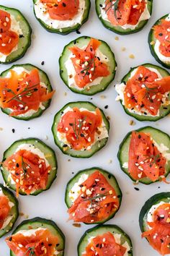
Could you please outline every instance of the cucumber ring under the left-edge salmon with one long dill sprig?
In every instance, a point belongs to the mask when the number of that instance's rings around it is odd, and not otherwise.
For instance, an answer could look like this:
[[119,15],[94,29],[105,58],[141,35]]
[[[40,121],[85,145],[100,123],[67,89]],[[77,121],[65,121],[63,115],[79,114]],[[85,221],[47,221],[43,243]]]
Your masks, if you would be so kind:
[[[19,64],[19,65],[13,65],[12,67],[10,67],[9,69],[6,69],[4,72],[1,73],[0,77],[6,77],[6,74],[11,70],[14,69],[15,67],[23,67],[24,69],[26,69],[27,71],[31,71],[32,69],[38,69],[39,71],[39,75],[40,75],[40,82],[43,82],[47,88],[48,88],[48,92],[51,92],[53,90],[51,84],[50,84],[50,80],[48,78],[48,75],[42,71],[42,69],[39,69],[38,67],[33,66],[32,64]],[[24,115],[19,115],[19,116],[12,116],[14,117],[14,119],[19,119],[19,120],[24,120],[24,121],[28,121],[30,119],[34,119],[38,116],[41,116],[42,113],[45,111],[45,109],[47,109],[50,106],[50,102],[51,99],[45,102],[42,102],[42,106],[44,106],[44,109],[39,108],[37,110],[37,112],[35,112],[34,114],[32,114],[31,116],[24,116]],[[1,108],[1,111],[4,112],[4,114],[11,114],[12,111],[9,108]]]

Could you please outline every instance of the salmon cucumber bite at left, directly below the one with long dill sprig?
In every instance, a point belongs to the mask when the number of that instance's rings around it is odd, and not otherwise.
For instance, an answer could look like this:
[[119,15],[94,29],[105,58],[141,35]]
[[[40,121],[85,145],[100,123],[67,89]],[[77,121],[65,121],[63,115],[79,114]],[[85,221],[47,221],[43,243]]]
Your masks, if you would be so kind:
[[1,174],[17,196],[38,195],[56,178],[55,152],[38,139],[17,140],[4,152]]

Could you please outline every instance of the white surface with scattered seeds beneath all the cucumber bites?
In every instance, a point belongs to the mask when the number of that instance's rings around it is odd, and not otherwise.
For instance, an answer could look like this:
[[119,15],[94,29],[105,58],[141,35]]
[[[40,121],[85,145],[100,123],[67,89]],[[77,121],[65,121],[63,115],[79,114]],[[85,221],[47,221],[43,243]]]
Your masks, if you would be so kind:
[[[27,51],[24,58],[17,61],[16,64],[30,63],[44,69],[50,77],[53,88],[56,90],[50,108],[48,108],[45,114],[40,118],[33,119],[32,121],[17,121],[0,113],[0,127],[3,128],[2,131],[0,130],[0,158],[2,158],[4,150],[6,150],[12,142],[22,137],[40,138],[55,150],[58,158],[58,178],[53,183],[51,189],[37,197],[19,196],[19,211],[28,215],[29,218],[35,216],[52,218],[66,235],[66,256],[76,256],[76,246],[81,235],[84,234],[86,229],[91,228],[93,225],[86,226],[81,224],[81,228],[76,228],[72,226],[71,221],[68,222],[67,208],[64,202],[66,183],[73,177],[72,172],[76,174],[77,171],[83,168],[99,166],[115,174],[123,195],[119,212],[115,218],[107,223],[119,225],[130,235],[133,241],[134,256],[157,256],[157,252],[148,245],[146,239],[142,240],[140,238],[138,215],[148,197],[158,192],[169,191],[169,185],[163,183],[151,184],[149,186],[139,184],[138,188],[140,191],[136,191],[133,182],[120,170],[117,161],[117,150],[123,137],[125,137],[127,132],[131,129],[138,129],[139,127],[149,124],[169,133],[170,117],[167,116],[161,121],[156,121],[156,123],[135,121],[135,126],[130,126],[129,121],[132,120],[132,118],[125,114],[119,102],[115,102],[116,93],[113,85],[121,80],[122,76],[129,71],[130,67],[146,62],[157,64],[148,48],[148,32],[153,23],[158,20],[159,17],[166,14],[168,9],[170,10],[169,0],[154,0],[153,15],[148,25],[146,25],[142,31],[134,35],[118,35],[119,40],[115,40],[115,36],[117,36],[115,33],[112,33],[102,26],[94,9],[94,0],[91,0],[89,21],[81,27],[81,35],[100,38],[109,43],[112,51],[115,52],[118,64],[115,81],[105,92],[92,96],[92,100],[90,100],[91,97],[89,96],[75,94],[68,90],[66,85],[63,84],[58,72],[58,58],[63,51],[63,46],[71,40],[78,38],[79,35],[71,33],[70,35],[64,36],[48,33],[35,19],[31,0],[0,0],[0,4],[19,9],[25,17],[27,17],[27,20],[29,20],[33,30],[32,46]],[[122,47],[126,47],[126,51],[122,52]],[[135,59],[130,59],[130,54],[134,54]],[[45,61],[44,66],[41,66],[42,61]],[[7,66],[0,64],[0,72],[10,66],[10,64]],[[105,95],[106,98],[101,98],[101,95]],[[69,101],[91,101],[103,109],[104,106],[109,106],[109,108],[105,110],[107,116],[111,116],[109,141],[106,147],[92,158],[69,158],[63,155],[53,142],[53,135],[50,130],[53,123],[53,116]],[[28,129],[28,127],[30,127],[30,129]],[[12,133],[12,128],[15,129],[14,134]],[[48,136],[48,140],[45,140],[46,135]],[[71,159],[71,161],[68,162],[68,159]],[[110,160],[112,160],[112,163],[109,163]],[[3,182],[1,177],[0,182]],[[23,217],[19,217],[17,224],[23,221],[23,219]],[[9,249],[4,239],[5,236],[0,239],[1,256],[9,255]]]

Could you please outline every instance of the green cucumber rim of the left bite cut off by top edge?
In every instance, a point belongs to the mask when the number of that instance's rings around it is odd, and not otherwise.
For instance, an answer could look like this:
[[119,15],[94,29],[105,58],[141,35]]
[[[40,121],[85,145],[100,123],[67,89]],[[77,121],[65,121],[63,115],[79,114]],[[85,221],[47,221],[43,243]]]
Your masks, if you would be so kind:
[[58,34],[61,34],[61,35],[68,35],[69,33],[73,32],[73,31],[78,31],[79,28],[81,27],[81,25],[83,25],[89,18],[91,1],[90,0],[84,0],[85,1],[85,9],[84,9],[84,14],[83,14],[81,24],[77,23],[76,25],[73,25],[73,27],[63,27],[63,28],[60,28],[60,29],[56,29],[56,28],[53,28],[52,26],[49,26],[48,24],[46,24],[44,21],[42,21],[40,18],[37,17],[36,12],[35,12],[35,4],[37,3],[37,1],[38,0],[33,0],[35,17],[40,22],[40,25],[42,25],[42,27],[44,27],[45,30],[48,30],[48,32],[51,32],[51,33],[58,33]]

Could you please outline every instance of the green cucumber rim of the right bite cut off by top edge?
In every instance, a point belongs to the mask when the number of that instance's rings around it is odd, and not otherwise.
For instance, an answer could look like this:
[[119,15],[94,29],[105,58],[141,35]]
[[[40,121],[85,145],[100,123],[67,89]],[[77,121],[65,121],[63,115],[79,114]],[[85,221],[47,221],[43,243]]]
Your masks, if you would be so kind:
[[[101,12],[101,7],[104,5],[104,1],[105,0],[96,0],[96,12],[97,12],[97,16],[99,17],[99,20],[101,20],[102,24],[104,25],[104,27],[106,27],[108,30],[111,30],[117,34],[120,35],[129,35],[129,34],[133,34],[133,33],[137,33],[138,31],[142,30],[143,27],[147,24],[148,20],[143,20],[141,21],[137,27],[135,27],[135,29],[124,29],[121,26],[114,26],[112,25],[111,22],[108,22],[107,20],[104,20],[102,18],[102,12]],[[148,12],[150,12],[150,14],[152,14],[152,7],[153,7],[153,0],[148,0]]]

